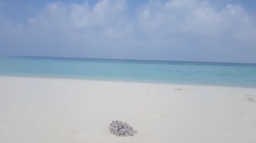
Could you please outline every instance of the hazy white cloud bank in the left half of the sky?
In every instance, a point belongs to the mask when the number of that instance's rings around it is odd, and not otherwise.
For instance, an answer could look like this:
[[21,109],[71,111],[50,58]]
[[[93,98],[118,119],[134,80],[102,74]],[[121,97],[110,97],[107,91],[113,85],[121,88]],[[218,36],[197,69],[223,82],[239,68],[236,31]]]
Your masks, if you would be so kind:
[[[48,4],[42,12],[29,21],[34,30],[45,32],[76,33],[84,30],[84,33],[87,33],[87,30],[94,29],[95,33],[99,32],[98,34],[105,31],[110,33],[113,25],[126,25],[124,21],[122,22],[125,9],[125,1],[103,0],[93,7],[88,2],[70,5],[56,2]],[[115,31],[111,30],[112,34],[108,35],[116,37],[119,34],[114,34]]]

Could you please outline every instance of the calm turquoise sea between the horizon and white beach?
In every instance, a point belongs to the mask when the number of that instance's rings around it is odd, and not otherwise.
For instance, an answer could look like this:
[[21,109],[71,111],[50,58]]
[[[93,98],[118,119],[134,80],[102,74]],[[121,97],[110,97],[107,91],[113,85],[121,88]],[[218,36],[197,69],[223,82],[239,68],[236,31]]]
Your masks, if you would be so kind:
[[256,64],[0,56],[0,75],[256,88]]

